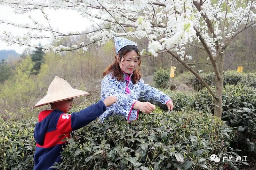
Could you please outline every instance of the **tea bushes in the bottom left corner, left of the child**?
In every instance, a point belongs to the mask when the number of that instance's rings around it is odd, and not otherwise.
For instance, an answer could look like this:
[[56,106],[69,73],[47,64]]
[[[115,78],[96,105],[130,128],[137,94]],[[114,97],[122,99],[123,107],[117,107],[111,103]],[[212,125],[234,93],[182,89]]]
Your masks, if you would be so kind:
[[0,169],[33,169],[36,119],[20,119],[19,122],[0,121]]

